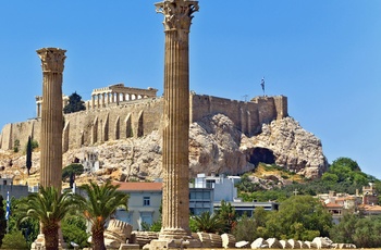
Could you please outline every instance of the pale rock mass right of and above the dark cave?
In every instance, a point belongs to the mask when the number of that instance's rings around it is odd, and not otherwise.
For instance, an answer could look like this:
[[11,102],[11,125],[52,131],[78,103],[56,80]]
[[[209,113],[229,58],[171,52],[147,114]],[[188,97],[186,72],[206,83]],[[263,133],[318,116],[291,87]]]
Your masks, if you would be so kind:
[[[242,148],[270,150],[274,163],[306,177],[320,176],[328,168],[321,141],[292,117],[262,125],[262,133],[245,138]],[[263,150],[263,151],[266,151]]]

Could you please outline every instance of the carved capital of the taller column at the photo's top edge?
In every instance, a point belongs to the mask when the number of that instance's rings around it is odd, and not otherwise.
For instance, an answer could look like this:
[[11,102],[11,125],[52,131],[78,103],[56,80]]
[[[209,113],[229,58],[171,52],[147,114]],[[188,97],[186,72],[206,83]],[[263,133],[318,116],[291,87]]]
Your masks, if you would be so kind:
[[156,12],[164,15],[165,30],[189,32],[193,13],[198,11],[198,1],[164,0],[158,2]]

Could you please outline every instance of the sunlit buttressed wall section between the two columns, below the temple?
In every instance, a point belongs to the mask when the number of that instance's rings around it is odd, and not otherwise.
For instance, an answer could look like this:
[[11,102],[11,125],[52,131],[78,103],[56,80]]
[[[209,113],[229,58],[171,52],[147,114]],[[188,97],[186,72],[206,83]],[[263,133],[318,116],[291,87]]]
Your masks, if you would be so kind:
[[160,98],[150,98],[66,114],[63,149],[148,135],[160,128],[162,109]]

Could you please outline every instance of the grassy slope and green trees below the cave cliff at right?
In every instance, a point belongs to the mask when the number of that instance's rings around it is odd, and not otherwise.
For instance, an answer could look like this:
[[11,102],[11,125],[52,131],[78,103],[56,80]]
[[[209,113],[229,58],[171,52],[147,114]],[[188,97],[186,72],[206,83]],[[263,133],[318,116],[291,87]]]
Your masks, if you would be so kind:
[[379,179],[361,172],[356,161],[339,158],[321,178],[314,180],[285,171],[281,166],[259,164],[254,172],[242,176],[237,188],[238,196],[244,201],[283,201],[294,195],[316,196],[329,191],[354,195],[356,189],[361,191],[369,183],[381,193]]

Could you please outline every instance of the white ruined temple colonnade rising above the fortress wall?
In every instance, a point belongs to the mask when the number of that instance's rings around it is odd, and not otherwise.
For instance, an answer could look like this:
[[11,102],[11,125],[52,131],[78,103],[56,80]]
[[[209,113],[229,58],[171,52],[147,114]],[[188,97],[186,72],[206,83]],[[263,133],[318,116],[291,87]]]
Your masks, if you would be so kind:
[[124,84],[115,84],[105,88],[94,89],[91,92],[91,101],[87,102],[87,109],[99,109],[108,107],[111,103],[132,101],[144,98],[153,98],[157,95],[155,88],[131,88],[124,87]]

